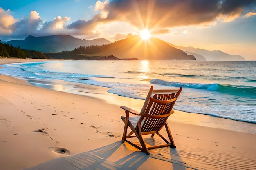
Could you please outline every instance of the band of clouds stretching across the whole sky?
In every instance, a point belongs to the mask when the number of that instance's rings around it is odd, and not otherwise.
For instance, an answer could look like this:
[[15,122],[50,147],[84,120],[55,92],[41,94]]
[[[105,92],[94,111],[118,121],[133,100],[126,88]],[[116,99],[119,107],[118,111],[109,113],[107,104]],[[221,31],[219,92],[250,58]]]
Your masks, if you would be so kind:
[[61,16],[43,21],[36,11],[18,20],[10,15],[9,10],[0,8],[0,35],[11,35],[12,38],[54,34],[101,35],[100,29],[112,28],[115,22],[125,22],[137,30],[150,29],[152,34],[166,34],[175,27],[209,27],[218,21],[232,22],[240,16],[256,15],[248,13],[255,7],[256,0],[98,0],[90,20],[80,19],[72,23],[69,23],[69,17]]

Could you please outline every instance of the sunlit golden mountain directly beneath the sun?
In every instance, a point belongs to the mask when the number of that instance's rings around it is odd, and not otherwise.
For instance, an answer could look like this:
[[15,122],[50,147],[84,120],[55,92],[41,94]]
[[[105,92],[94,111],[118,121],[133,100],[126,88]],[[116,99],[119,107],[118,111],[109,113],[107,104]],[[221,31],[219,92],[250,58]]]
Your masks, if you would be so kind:
[[187,55],[184,51],[172,47],[158,38],[150,37],[149,40],[141,40],[139,35],[129,35],[126,39],[104,45],[95,54],[103,56],[114,55],[121,59],[195,60],[193,55]]

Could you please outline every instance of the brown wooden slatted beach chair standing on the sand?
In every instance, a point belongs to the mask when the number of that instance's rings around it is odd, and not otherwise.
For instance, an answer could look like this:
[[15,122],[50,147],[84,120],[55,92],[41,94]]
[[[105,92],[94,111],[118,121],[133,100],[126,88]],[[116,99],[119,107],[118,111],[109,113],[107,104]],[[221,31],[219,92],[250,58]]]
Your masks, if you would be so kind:
[[[125,117],[121,116],[121,119],[124,121],[124,134],[122,141],[128,142],[132,146],[145,152],[147,155],[149,155],[149,149],[160,148],[164,146],[176,148],[170,128],[166,121],[168,117],[174,113],[172,109],[181,91],[182,87],[179,89],[162,90],[153,90],[153,87],[151,87],[140,113],[126,106],[121,106],[121,108],[125,110],[126,114]],[[137,116],[129,117],[129,113]],[[130,127],[131,132],[127,135],[128,126]],[[159,133],[163,127],[166,128],[169,141]],[[151,134],[151,137],[153,137],[155,133],[159,135],[159,137],[161,137],[166,142],[166,144],[147,147],[142,135]],[[137,137],[141,147],[127,140],[127,138],[131,137]]]

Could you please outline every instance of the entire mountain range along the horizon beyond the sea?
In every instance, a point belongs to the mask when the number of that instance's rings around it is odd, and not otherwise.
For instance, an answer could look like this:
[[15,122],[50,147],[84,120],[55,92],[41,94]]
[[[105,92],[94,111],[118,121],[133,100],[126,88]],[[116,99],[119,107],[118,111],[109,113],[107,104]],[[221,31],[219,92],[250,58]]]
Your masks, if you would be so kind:
[[[139,42],[139,43],[138,43]],[[94,40],[82,40],[70,35],[52,35],[45,37],[28,36],[24,40],[11,40],[7,42],[13,47],[40,51],[43,53],[59,53],[72,51],[80,46],[102,46],[108,45],[97,53],[98,56],[113,55],[120,59],[138,58],[141,60],[219,60],[219,61],[244,61],[240,55],[230,55],[220,50],[195,49],[193,47],[175,46],[158,38],[150,38],[151,45],[147,41],[141,41],[137,35],[128,35],[126,39],[114,43],[104,38]],[[135,45],[136,44],[136,45]],[[85,53],[86,54],[86,53]]]

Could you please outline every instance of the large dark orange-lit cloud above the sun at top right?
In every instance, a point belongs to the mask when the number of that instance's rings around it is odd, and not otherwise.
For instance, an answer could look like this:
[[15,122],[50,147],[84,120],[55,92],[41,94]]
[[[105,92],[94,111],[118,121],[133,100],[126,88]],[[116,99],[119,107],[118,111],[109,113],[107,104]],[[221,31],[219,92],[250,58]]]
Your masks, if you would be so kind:
[[[200,25],[216,20],[231,21],[254,9],[256,0],[113,0],[89,21],[76,21],[68,29],[93,28],[99,22],[125,21],[139,29]],[[225,18],[231,18],[229,20]]]

